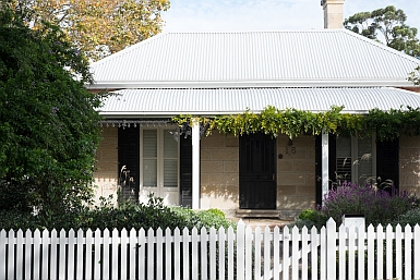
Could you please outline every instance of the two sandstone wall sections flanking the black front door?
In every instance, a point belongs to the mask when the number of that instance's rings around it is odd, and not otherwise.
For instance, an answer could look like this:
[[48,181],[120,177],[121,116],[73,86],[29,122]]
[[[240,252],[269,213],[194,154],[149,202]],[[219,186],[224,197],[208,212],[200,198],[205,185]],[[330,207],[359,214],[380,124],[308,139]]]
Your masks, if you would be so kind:
[[[315,141],[277,137],[277,209],[293,217],[315,206]],[[279,158],[280,157],[280,158]],[[201,142],[201,208],[233,216],[239,206],[239,138],[217,132]]]

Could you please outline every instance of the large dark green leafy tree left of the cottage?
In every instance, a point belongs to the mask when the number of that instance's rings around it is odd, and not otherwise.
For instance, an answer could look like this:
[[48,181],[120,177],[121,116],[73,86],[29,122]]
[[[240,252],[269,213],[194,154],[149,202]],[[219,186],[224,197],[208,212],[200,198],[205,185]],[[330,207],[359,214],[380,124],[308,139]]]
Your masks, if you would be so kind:
[[92,198],[103,95],[89,82],[59,27],[0,10],[0,209],[60,215]]

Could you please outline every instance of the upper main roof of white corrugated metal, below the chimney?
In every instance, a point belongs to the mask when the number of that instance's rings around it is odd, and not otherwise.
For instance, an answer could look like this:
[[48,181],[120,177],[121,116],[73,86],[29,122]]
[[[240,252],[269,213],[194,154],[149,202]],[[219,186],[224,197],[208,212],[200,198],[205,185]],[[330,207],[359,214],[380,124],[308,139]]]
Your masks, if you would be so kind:
[[92,88],[404,86],[420,60],[346,29],[163,33],[92,64]]

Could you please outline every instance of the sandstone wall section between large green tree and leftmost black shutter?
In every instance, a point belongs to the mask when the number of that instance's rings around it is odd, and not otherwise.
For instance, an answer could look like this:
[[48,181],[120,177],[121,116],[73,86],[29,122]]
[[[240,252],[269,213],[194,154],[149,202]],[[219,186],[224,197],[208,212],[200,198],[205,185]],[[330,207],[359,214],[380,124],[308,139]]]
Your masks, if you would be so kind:
[[96,151],[97,163],[95,172],[95,202],[99,197],[113,196],[117,202],[118,185],[118,127],[103,127],[103,141]]

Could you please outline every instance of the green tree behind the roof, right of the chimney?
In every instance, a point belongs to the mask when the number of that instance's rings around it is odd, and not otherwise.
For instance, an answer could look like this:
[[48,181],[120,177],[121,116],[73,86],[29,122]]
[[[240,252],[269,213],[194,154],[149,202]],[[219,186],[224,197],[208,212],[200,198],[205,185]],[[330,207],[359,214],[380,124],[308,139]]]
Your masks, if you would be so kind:
[[360,12],[346,19],[344,25],[357,34],[381,41],[386,46],[420,58],[420,42],[417,28],[405,24],[407,15],[400,9],[388,5],[372,12]]

